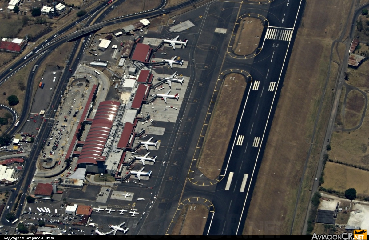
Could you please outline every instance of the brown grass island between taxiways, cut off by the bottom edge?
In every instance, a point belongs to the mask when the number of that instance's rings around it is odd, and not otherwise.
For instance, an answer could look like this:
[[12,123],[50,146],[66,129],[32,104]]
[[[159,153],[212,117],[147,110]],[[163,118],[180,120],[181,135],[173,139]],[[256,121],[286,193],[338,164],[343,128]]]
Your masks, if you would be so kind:
[[199,236],[203,234],[208,214],[209,209],[205,205],[202,204],[184,205],[171,235]]

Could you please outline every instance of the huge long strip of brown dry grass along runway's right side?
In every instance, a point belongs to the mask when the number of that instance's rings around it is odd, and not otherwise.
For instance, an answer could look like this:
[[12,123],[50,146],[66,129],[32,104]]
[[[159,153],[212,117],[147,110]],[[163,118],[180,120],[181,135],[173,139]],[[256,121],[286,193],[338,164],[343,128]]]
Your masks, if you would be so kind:
[[[307,1],[244,227],[244,235],[289,235],[297,192],[310,147],[317,109],[328,74],[327,59],[350,13],[350,1]],[[340,53],[343,56],[344,53]],[[301,57],[303,56],[303,57]],[[335,72],[336,71],[336,72]],[[323,144],[337,70],[332,69],[314,144],[297,205],[292,234],[300,235],[306,217],[318,153]],[[317,145],[317,146],[315,146]]]

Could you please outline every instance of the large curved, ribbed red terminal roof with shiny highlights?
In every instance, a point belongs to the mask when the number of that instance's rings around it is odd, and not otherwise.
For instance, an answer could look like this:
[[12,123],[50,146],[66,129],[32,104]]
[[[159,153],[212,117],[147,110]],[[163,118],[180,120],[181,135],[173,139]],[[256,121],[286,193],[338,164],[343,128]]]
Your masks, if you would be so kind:
[[117,101],[100,102],[77,164],[97,164],[97,161],[105,160],[104,157],[101,157],[101,154],[109,137],[111,127],[113,127],[119,105],[120,102]]

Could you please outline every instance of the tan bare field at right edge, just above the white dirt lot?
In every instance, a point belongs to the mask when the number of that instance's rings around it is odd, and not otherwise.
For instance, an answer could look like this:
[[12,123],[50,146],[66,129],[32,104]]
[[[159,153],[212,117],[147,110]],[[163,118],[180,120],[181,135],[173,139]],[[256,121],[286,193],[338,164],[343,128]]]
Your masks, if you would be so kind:
[[327,162],[324,169],[323,188],[344,192],[355,188],[358,195],[369,196],[369,171],[348,167],[334,162]]

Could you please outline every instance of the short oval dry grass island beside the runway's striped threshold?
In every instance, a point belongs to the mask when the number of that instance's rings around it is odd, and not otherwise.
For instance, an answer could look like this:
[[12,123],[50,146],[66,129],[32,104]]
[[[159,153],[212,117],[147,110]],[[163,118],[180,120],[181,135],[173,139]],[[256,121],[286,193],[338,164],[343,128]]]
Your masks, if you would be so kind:
[[259,18],[242,19],[233,43],[233,53],[241,56],[252,54],[258,47],[263,27],[263,21]]

